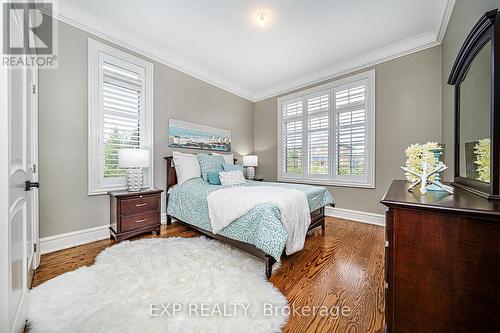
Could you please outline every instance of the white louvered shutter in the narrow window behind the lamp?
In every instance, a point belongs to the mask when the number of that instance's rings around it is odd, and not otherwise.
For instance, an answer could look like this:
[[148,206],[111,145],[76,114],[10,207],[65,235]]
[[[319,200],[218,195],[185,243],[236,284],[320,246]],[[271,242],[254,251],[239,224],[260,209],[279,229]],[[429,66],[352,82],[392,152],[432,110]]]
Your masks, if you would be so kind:
[[102,177],[123,181],[118,149],[140,148],[144,140],[144,70],[102,54],[100,61],[102,115]]

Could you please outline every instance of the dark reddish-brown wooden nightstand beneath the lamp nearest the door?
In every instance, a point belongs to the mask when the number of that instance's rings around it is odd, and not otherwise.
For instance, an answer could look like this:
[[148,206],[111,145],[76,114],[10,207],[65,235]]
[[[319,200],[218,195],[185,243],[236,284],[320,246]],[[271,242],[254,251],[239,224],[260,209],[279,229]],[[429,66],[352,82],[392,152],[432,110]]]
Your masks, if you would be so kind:
[[144,232],[160,234],[160,189],[139,192],[109,192],[111,216],[109,230],[117,242]]

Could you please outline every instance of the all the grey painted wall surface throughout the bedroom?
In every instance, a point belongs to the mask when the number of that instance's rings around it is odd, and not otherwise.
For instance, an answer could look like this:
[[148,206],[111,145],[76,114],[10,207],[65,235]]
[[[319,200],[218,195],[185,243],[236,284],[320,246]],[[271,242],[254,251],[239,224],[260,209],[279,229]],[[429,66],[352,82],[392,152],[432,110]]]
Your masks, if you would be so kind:
[[[497,7],[500,0],[457,0],[441,46],[374,66],[376,188],[329,187],[338,207],[382,213],[378,202],[392,179],[403,178],[399,166],[411,143],[445,143],[446,164],[453,168],[453,89],[446,81],[473,24]],[[108,198],[87,196],[88,37],[92,36],[60,23],[59,69],[40,71],[41,237],[105,225],[109,219]],[[171,152],[167,147],[169,118],[232,129],[234,152],[244,155],[253,150],[259,155],[258,176],[276,179],[279,96],[254,104],[153,63],[157,187],[164,187],[162,157]],[[446,174],[447,179],[451,176],[451,172]]]

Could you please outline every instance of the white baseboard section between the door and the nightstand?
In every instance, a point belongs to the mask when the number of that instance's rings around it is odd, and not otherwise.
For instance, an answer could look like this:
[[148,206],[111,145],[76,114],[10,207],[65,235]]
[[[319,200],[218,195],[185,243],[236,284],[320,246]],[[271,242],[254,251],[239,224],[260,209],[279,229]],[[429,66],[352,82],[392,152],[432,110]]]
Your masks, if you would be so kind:
[[90,229],[68,232],[66,234],[40,238],[40,252],[42,254],[55,252],[106,238],[109,238],[109,224]]

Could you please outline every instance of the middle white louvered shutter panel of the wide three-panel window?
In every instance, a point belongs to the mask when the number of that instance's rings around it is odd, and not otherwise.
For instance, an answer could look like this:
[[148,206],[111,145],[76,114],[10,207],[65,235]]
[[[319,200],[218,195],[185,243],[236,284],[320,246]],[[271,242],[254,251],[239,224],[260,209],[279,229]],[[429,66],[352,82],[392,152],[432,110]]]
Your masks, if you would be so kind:
[[312,176],[328,176],[330,90],[308,96],[306,105],[308,173]]

